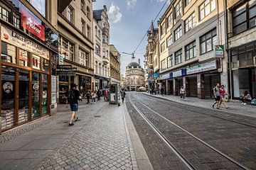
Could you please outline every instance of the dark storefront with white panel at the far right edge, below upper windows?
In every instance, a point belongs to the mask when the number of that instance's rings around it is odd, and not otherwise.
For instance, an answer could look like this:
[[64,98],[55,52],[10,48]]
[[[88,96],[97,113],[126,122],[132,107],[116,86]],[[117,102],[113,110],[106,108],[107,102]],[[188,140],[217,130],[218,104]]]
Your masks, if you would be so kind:
[[256,41],[230,49],[232,96],[240,98],[248,91],[256,98]]

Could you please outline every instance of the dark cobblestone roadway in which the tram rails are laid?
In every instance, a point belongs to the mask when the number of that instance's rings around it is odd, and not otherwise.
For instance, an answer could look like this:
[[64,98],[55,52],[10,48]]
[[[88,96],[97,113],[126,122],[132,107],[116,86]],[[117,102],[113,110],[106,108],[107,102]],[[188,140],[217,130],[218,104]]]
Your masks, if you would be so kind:
[[[137,108],[149,118],[151,123],[164,134],[193,166],[196,166],[196,169],[240,168],[215,152],[210,151],[209,148],[201,146],[198,141],[191,140],[190,136],[183,134],[171,123],[156,115],[152,109],[221,152],[228,154],[229,157],[233,157],[233,159],[245,164],[250,169],[256,169],[255,118],[163,101],[157,98],[149,98],[143,94],[130,93],[129,95],[132,96],[131,101]],[[142,106],[140,102],[150,109]],[[164,145],[154,145],[154,143],[161,144],[161,140],[150,132],[150,128],[140,126],[144,121],[139,119],[138,113],[129,105],[129,102],[127,103],[127,108],[131,111],[129,113],[132,120],[134,120],[134,126],[137,128],[139,137],[142,139],[154,169],[174,169],[174,164],[169,164],[169,167],[166,168],[161,166],[159,162],[162,161],[164,162],[162,164],[168,164],[168,162],[176,160],[176,157],[171,157],[169,149],[166,149]],[[239,120],[241,120],[241,123]],[[143,130],[140,130],[141,128]],[[149,142],[149,139],[152,142]],[[160,159],[162,154],[169,159]]]

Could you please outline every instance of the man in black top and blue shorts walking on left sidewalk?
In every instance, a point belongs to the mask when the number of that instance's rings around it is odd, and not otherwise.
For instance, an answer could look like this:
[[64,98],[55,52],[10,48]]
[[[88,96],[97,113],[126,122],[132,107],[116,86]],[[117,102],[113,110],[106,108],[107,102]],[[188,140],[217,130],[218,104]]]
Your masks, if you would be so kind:
[[71,90],[68,91],[68,100],[67,100],[67,106],[68,103],[70,104],[70,109],[72,111],[72,115],[70,118],[69,125],[74,125],[73,120],[76,122],[78,120],[78,117],[75,118],[75,112],[78,111],[78,101],[82,100],[82,97],[80,96],[80,91],[76,89],[76,84],[71,84]]

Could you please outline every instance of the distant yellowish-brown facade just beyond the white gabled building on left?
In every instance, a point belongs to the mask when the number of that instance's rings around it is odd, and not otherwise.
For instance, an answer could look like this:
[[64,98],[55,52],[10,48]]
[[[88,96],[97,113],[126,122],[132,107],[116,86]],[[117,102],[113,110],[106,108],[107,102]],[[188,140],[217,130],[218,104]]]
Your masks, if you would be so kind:
[[110,84],[120,84],[120,53],[110,45]]

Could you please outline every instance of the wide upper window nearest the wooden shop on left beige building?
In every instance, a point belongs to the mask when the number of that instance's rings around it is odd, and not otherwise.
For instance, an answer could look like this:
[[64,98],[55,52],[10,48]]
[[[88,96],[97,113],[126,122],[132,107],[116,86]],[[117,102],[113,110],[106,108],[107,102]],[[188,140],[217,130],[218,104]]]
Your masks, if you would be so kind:
[[74,61],[74,50],[75,45],[70,42],[69,40],[66,40],[63,37],[59,38],[59,51],[60,54],[64,56],[66,60]]

